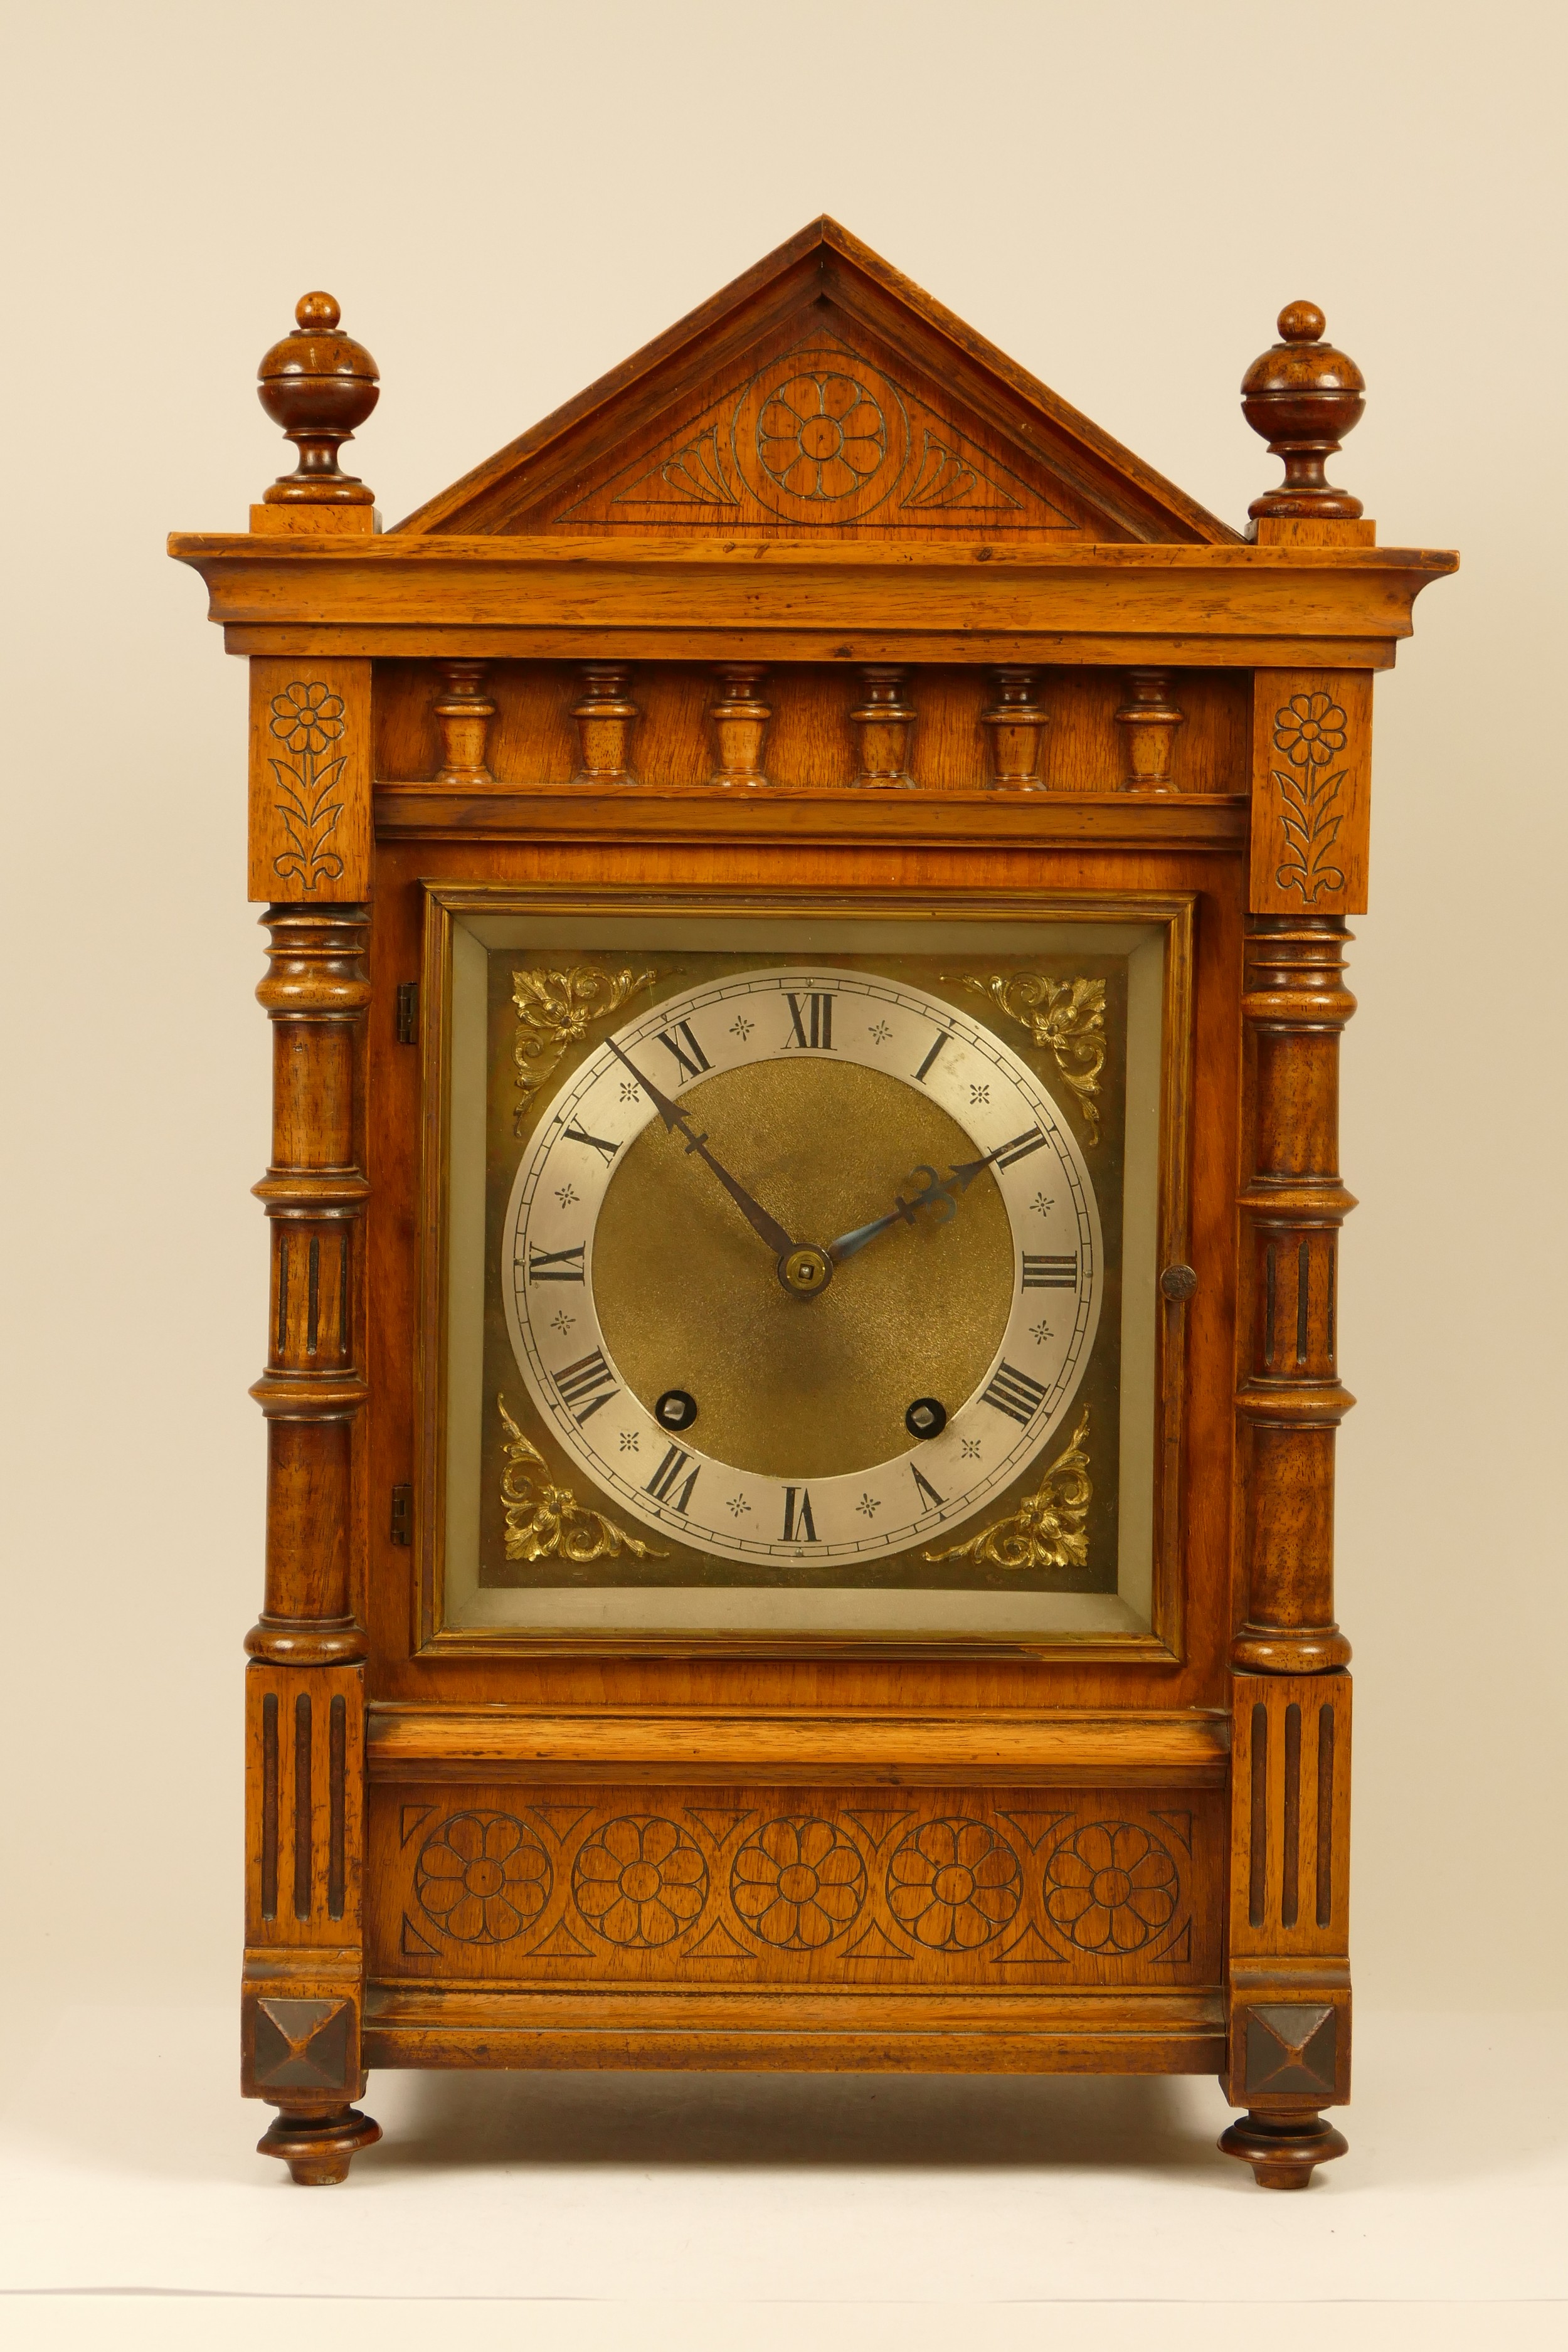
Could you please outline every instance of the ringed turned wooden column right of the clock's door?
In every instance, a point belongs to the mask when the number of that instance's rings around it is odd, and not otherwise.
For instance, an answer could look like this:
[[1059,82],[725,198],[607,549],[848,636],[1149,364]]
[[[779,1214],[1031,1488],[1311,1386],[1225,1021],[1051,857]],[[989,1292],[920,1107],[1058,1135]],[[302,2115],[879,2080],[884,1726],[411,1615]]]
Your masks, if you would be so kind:
[[1333,1621],[1333,1442],[1354,1402],[1338,1378],[1342,981],[1338,917],[1255,915],[1241,997],[1251,1084],[1241,1209],[1237,1439],[1246,1618],[1232,1665],[1345,1665]]

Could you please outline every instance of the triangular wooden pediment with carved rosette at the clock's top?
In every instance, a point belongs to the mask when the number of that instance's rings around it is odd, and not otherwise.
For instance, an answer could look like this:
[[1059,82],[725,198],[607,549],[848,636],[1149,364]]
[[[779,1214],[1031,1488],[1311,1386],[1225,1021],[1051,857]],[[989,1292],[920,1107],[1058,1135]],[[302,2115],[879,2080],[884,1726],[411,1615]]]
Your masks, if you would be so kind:
[[400,532],[1237,536],[827,219]]

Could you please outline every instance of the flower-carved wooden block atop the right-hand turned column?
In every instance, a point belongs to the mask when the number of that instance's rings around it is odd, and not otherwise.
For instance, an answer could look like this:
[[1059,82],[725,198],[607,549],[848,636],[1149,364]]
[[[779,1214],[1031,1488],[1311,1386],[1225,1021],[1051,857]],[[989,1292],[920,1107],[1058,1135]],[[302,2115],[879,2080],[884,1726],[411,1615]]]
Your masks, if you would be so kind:
[[1373,680],[1253,675],[1253,915],[1363,915]]

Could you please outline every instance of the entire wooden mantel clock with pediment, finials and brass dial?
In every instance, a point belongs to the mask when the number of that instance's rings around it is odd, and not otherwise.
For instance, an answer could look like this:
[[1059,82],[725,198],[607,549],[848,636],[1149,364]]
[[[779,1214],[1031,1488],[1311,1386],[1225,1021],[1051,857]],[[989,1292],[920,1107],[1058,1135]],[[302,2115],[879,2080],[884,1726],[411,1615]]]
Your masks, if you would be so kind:
[[1333,1621],[1371,682],[1455,557],[1246,536],[835,221],[383,532],[179,536],[273,1021],[244,2089],[369,2067],[1349,2089]]

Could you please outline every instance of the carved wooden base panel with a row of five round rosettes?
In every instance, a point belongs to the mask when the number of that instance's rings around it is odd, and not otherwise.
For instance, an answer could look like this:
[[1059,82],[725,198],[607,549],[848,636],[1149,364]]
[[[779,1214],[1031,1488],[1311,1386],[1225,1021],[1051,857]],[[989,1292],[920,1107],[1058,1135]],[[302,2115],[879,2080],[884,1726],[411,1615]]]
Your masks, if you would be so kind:
[[371,1790],[369,1973],[425,1985],[1218,1985],[1220,1792]]

